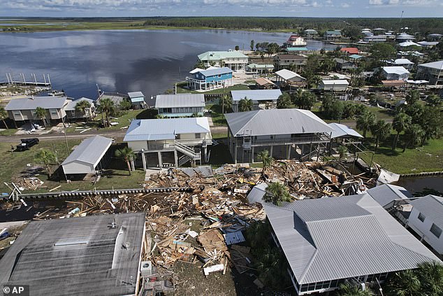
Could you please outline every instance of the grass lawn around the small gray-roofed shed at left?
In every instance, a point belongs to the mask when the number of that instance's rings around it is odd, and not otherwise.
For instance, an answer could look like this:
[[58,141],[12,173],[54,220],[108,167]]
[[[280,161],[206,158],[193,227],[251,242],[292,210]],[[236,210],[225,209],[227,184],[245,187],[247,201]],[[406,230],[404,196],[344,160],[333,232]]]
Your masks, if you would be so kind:
[[[68,140],[69,153],[71,153],[72,148],[80,143],[80,140]],[[113,147],[113,146],[112,146]],[[47,149],[52,152],[57,153],[59,163],[68,156],[68,150],[66,148],[66,143],[64,141],[41,141],[38,145],[32,147],[30,150],[23,152],[10,152],[10,143],[0,143],[0,192],[10,192],[8,187],[3,183],[10,183],[11,181],[17,182],[22,180],[22,176],[27,173],[29,167],[27,164],[31,164],[31,167],[45,167],[43,164],[36,164],[34,157],[38,150]],[[51,165],[52,171],[56,171],[59,168],[57,163]],[[56,191],[62,190],[97,190],[101,189],[112,189],[112,188],[140,188],[140,183],[143,182],[145,178],[145,172],[142,169],[138,169],[132,172],[129,176],[129,172],[126,169],[126,164],[115,157],[110,159],[107,166],[105,167],[105,173],[101,177],[98,183],[95,185],[91,181],[72,181],[71,183],[66,183],[64,180],[64,174],[59,169],[56,173],[48,180],[48,175],[46,174],[46,169],[38,171],[37,178],[45,182],[43,186],[45,188],[40,188],[37,192],[48,192],[48,190],[61,185],[61,188]]]

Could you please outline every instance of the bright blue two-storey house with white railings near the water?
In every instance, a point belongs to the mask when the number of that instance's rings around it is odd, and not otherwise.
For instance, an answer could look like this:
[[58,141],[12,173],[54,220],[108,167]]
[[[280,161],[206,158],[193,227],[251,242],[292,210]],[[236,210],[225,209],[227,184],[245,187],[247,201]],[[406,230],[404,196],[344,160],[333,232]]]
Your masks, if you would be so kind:
[[186,80],[191,90],[214,90],[233,85],[232,73],[233,71],[228,67],[210,66],[206,70],[196,68],[189,72],[191,76]]

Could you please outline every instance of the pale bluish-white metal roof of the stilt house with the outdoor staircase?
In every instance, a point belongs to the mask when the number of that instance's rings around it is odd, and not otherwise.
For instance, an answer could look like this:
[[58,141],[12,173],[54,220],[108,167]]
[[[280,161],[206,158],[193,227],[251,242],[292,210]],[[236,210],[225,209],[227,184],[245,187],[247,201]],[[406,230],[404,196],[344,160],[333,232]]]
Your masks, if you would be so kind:
[[123,141],[173,140],[177,134],[210,132],[208,118],[137,119],[124,136]]

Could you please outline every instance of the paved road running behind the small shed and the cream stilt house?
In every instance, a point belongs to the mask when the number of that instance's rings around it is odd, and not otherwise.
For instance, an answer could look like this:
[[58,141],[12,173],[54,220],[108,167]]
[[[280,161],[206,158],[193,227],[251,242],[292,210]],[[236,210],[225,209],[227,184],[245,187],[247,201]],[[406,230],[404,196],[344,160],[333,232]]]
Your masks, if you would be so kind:
[[[212,133],[222,134],[228,132],[228,127],[211,127]],[[68,139],[85,139],[89,136],[108,136],[111,138],[123,138],[126,134],[126,129],[123,130],[106,130],[106,129],[98,129],[98,130],[90,130],[84,132],[82,134],[66,134],[66,138]],[[38,138],[40,141],[51,141],[51,140],[63,140],[64,134],[20,134],[13,136],[0,136],[0,141],[5,143],[19,143],[20,139],[24,138]]]

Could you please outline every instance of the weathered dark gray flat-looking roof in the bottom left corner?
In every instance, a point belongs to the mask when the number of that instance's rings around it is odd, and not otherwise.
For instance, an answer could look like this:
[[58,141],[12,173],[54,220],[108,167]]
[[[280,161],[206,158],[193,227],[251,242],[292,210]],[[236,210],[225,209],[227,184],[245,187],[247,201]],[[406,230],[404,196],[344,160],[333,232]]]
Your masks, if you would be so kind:
[[31,221],[0,260],[0,284],[33,296],[134,295],[144,230],[145,213]]

